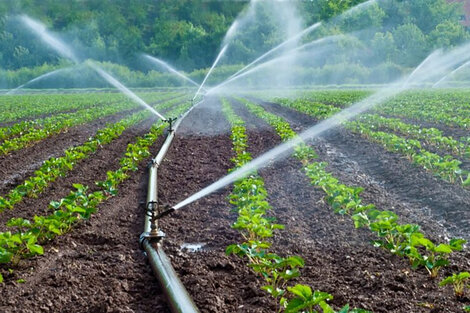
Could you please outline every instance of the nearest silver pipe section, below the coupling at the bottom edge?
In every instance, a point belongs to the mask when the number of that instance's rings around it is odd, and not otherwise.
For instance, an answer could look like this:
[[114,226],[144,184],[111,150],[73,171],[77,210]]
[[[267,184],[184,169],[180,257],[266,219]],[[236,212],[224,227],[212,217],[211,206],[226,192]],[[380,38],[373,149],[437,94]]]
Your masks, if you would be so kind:
[[148,240],[144,240],[143,248],[149,258],[150,266],[162,285],[171,311],[174,313],[199,313],[188,292],[176,275],[171,262],[163,251],[161,244],[155,249]]

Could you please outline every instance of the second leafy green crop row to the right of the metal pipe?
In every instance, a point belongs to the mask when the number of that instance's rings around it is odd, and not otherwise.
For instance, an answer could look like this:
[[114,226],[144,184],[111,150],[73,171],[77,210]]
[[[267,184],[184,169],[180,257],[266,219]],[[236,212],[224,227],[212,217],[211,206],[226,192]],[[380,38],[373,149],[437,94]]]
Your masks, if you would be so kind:
[[[282,140],[287,141],[296,136],[290,125],[274,114],[266,112],[257,104],[240,99],[253,114],[272,125]],[[312,157],[316,152],[312,147],[307,155]],[[295,154],[302,160],[302,154]],[[303,160],[304,171],[312,184],[326,193],[326,201],[338,214],[351,217],[356,228],[368,228],[378,237],[373,244],[398,256],[407,257],[413,268],[424,267],[432,278],[438,276],[439,269],[449,264],[449,255],[460,251],[466,243],[463,239],[451,239],[448,244],[435,244],[420,231],[419,225],[400,224],[398,215],[391,211],[378,210],[375,205],[362,204],[360,187],[341,184],[337,178],[326,171],[326,162]]]

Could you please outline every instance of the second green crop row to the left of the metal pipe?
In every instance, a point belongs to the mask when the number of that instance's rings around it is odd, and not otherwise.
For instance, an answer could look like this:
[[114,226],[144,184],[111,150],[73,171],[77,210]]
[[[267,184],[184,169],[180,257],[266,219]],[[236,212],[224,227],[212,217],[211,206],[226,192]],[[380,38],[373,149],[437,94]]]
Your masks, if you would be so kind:
[[[178,100],[167,101],[159,105],[158,109],[168,109],[174,105],[175,101]],[[80,161],[90,157],[104,145],[110,144],[113,140],[119,138],[124,130],[149,116],[150,113],[147,110],[135,113],[128,118],[99,130],[95,136],[88,139],[83,145],[65,150],[63,156],[58,158],[52,157],[44,161],[42,166],[34,172],[34,176],[29,177],[22,184],[16,186],[5,197],[0,197],[0,212],[7,208],[13,209],[14,205],[21,202],[24,197],[36,198],[50,183],[59,177],[66,176]]]

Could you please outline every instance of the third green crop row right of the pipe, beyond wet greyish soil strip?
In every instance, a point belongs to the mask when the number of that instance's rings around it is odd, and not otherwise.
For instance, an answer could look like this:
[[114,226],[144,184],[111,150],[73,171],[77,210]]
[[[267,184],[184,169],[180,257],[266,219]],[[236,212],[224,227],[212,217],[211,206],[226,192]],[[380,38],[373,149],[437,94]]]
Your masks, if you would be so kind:
[[[325,105],[311,103],[305,99],[298,100],[287,100],[279,99],[277,103],[292,108],[294,110],[306,113],[317,119],[325,119],[337,113],[340,109]],[[382,118],[382,121],[388,121],[389,124],[394,123],[394,119]],[[399,128],[402,125],[403,131],[405,129],[414,130],[413,132],[419,133],[419,128],[417,126],[407,126],[408,124],[401,123],[396,124],[396,127]],[[406,125],[406,126],[403,126]],[[461,161],[454,159],[452,156],[440,156],[438,154],[432,153],[424,149],[418,140],[414,139],[405,139],[395,134],[375,131],[374,125],[362,120],[348,122],[345,126],[353,132],[359,133],[362,136],[372,140],[374,142],[380,143],[387,150],[403,154],[408,157],[410,161],[422,166],[424,169],[438,175],[442,179],[449,181],[451,183],[459,183],[463,186],[470,185],[470,176],[468,171],[463,170],[460,165]],[[413,133],[412,132],[412,133]],[[432,132],[428,130],[428,133]],[[434,134],[436,134],[434,132]],[[447,142],[451,144],[453,141],[449,137],[434,137],[434,142]],[[461,149],[466,149],[465,143],[456,143]]]

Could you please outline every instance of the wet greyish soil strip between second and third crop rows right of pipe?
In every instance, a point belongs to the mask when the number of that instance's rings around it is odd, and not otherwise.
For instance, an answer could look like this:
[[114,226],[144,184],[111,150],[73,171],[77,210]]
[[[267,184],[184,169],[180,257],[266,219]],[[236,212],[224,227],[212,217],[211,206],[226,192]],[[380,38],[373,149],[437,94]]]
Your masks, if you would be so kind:
[[[317,122],[274,103],[264,103],[263,107],[285,117],[298,131]],[[427,227],[430,233],[440,224],[444,227],[442,236],[470,239],[469,190],[447,183],[401,155],[344,129],[325,134],[315,147],[320,158],[330,164],[328,169],[342,182],[366,188],[363,198],[367,202],[396,210],[406,222],[425,229],[427,221],[432,221],[434,224]]]

